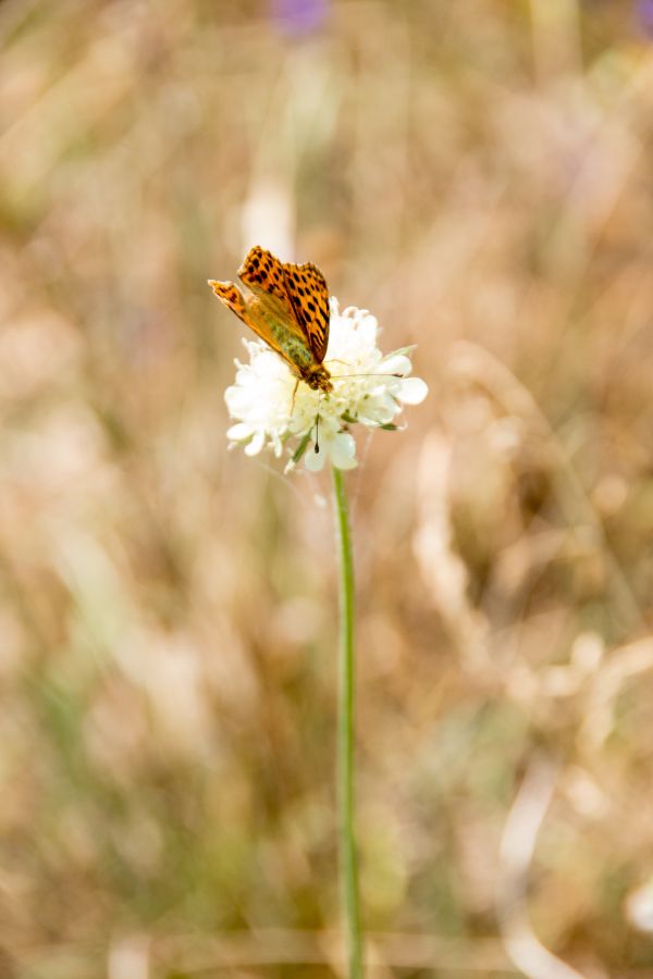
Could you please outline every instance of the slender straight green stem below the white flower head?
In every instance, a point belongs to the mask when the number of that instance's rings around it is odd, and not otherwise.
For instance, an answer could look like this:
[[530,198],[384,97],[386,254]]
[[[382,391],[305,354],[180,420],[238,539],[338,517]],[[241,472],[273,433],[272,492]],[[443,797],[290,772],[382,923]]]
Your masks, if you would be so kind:
[[332,467],[340,543],[340,693],[337,726],[337,789],[340,808],[340,872],[347,927],[348,979],[362,979],[362,939],[358,900],[358,857],[354,829],[354,560],[347,494],[343,473]]

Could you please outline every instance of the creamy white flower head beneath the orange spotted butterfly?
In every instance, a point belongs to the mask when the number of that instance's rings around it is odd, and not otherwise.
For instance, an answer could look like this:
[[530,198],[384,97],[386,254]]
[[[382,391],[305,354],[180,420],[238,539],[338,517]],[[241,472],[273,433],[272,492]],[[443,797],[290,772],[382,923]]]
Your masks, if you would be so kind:
[[379,326],[365,309],[342,313],[331,299],[329,349],[324,359],[333,391],[324,394],[300,382],[282,358],[262,340],[244,340],[249,363],[236,360],[236,381],[225,392],[235,424],[227,431],[230,448],[244,445],[248,456],[271,448],[279,458],[284,446],[287,468],[303,456],[316,472],[330,461],[337,469],[354,469],[356,443],[349,429],[395,429],[404,405],[419,405],[429,388],[409,377],[411,349],[383,356],[377,347]]

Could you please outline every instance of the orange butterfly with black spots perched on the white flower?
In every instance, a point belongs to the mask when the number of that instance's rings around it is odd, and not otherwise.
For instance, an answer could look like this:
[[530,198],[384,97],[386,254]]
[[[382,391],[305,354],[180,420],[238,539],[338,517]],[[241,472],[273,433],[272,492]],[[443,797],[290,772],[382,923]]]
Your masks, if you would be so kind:
[[323,360],[329,344],[329,289],[311,262],[282,262],[259,245],[238,269],[251,295],[233,282],[209,285],[224,302],[282,357],[299,381],[313,391],[333,391]]

